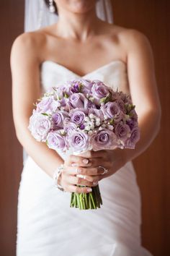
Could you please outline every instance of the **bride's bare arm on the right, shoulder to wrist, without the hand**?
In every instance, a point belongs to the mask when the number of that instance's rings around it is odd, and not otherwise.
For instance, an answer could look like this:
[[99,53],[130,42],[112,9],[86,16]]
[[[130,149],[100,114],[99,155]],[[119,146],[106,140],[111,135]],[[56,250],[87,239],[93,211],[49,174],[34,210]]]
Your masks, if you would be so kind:
[[140,141],[135,150],[125,150],[126,161],[143,153],[158,134],[161,105],[158,98],[153,53],[145,35],[131,30],[126,40],[130,94],[138,113]]

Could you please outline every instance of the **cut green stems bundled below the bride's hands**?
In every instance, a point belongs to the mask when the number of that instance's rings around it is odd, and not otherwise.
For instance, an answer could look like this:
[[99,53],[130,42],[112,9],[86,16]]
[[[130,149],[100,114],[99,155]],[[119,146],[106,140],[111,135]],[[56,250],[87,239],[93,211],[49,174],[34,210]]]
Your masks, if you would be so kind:
[[[79,187],[84,187],[80,186]],[[97,209],[102,205],[102,197],[99,192],[99,185],[92,187],[89,193],[71,193],[71,208],[79,208],[80,210]]]

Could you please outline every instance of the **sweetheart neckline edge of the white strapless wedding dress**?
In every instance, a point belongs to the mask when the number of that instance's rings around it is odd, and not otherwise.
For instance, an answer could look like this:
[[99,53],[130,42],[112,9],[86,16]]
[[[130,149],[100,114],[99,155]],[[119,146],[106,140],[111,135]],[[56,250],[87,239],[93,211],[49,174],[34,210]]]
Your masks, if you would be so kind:
[[[71,72],[72,74],[76,74],[76,73],[73,72],[71,69],[68,69],[67,67],[65,67],[65,66],[63,66],[63,65],[61,65],[61,64],[59,64],[59,63],[56,62],[56,61],[45,60],[45,61],[42,61],[41,65],[43,65],[43,64],[45,64],[45,63],[54,64],[55,66],[62,67],[63,69],[67,70],[68,72]],[[120,60],[120,59],[117,59],[117,60],[114,60],[114,61],[110,61],[109,63],[104,64],[104,65],[102,65],[101,67],[98,67],[97,69],[94,69],[94,70],[92,70],[91,72],[89,72],[89,73],[87,73],[87,74],[84,74],[83,76],[81,76],[81,75],[79,75],[79,74],[76,74],[76,76],[77,76],[77,77],[82,77],[82,78],[84,78],[84,77],[88,76],[89,74],[93,74],[94,72],[97,72],[97,71],[99,71],[99,70],[101,70],[101,69],[104,69],[104,68],[106,68],[106,67],[109,67],[109,65],[115,64],[115,63],[123,64],[123,65],[126,67],[126,63],[125,63],[124,61],[122,61],[122,60]]]

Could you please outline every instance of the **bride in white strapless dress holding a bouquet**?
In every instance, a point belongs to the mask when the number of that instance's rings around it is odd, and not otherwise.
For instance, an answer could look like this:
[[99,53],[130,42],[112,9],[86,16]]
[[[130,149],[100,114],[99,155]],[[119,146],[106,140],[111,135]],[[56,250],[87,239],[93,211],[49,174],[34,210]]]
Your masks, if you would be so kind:
[[[160,126],[151,46],[142,33],[100,20],[95,0],[49,3],[50,10],[57,7],[58,22],[19,35],[11,53],[14,124],[28,154],[19,185],[17,256],[151,255],[141,246],[140,191],[132,163]],[[131,95],[140,125],[135,150],[62,155],[35,141],[27,128],[33,103],[45,90],[75,78],[102,80]],[[66,192],[53,186],[61,164],[58,184]],[[99,166],[109,171],[103,174]],[[102,208],[69,208],[68,192],[88,193],[97,182]]]

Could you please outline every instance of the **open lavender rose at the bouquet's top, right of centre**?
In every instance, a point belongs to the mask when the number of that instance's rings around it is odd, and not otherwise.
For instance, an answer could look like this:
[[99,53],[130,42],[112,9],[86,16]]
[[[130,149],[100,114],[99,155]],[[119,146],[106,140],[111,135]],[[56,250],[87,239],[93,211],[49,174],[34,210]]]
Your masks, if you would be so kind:
[[109,94],[109,89],[103,82],[97,81],[94,82],[94,85],[91,88],[91,93],[94,98],[100,100],[101,98],[105,98]]

